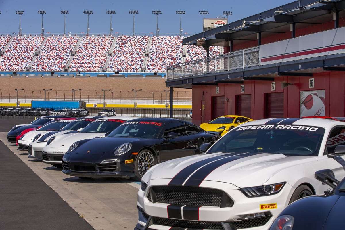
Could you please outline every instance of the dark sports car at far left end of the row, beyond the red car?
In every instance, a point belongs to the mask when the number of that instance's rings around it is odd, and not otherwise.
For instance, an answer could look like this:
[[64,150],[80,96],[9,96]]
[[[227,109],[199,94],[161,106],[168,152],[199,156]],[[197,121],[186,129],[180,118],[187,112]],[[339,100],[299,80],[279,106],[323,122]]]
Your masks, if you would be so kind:
[[45,116],[32,121],[30,124],[13,126],[12,129],[7,133],[7,140],[11,143],[16,143],[17,135],[29,128],[38,128],[47,122],[57,119],[57,118],[67,118],[66,116]]

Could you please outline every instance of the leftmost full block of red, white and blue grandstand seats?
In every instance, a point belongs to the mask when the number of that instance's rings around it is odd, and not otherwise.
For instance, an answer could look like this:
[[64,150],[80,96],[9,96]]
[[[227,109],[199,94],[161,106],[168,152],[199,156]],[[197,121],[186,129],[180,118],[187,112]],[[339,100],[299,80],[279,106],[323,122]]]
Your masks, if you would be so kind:
[[0,57],[0,70],[23,71],[31,62],[33,54],[40,47],[44,37],[14,37]]

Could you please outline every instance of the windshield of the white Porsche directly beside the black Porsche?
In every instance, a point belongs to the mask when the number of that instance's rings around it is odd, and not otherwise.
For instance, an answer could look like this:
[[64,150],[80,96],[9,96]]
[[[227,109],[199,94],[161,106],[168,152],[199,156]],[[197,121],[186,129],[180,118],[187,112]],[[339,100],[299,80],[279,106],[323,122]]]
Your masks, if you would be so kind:
[[80,132],[95,132],[95,133],[106,133],[116,129],[120,124],[124,123],[125,120],[120,119],[100,119],[91,122]]

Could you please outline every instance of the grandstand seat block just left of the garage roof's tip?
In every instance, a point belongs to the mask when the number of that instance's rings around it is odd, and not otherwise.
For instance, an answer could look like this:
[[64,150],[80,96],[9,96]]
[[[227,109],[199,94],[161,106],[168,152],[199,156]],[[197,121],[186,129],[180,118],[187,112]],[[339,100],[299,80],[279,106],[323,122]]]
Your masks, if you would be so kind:
[[149,72],[165,72],[167,66],[180,63],[182,61],[182,49],[182,37],[152,37],[150,47],[151,57],[147,60],[147,70]]

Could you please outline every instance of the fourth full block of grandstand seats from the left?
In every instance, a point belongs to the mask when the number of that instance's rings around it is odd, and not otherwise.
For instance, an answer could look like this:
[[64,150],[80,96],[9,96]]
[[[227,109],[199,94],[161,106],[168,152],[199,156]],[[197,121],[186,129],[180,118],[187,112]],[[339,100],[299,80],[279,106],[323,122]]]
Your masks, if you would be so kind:
[[118,36],[108,71],[140,72],[148,39],[148,36]]

